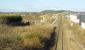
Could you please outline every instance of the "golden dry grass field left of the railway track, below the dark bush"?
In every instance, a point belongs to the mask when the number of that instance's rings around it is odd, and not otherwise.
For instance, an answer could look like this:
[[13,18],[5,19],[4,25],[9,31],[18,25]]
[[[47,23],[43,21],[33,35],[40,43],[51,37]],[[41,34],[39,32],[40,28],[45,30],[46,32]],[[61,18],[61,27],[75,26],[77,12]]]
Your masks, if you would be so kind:
[[[44,39],[49,39],[51,25],[31,25],[11,27],[0,25],[0,50],[20,50],[44,47]],[[18,47],[18,48],[17,48]]]

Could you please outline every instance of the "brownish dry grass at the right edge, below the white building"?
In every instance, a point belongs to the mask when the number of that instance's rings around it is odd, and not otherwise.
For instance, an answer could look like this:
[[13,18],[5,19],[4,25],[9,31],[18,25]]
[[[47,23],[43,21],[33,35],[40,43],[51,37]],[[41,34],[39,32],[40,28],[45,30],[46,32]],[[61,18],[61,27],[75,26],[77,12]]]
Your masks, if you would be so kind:
[[75,24],[71,27],[75,39],[83,46],[85,46],[85,29],[82,29],[79,25]]

